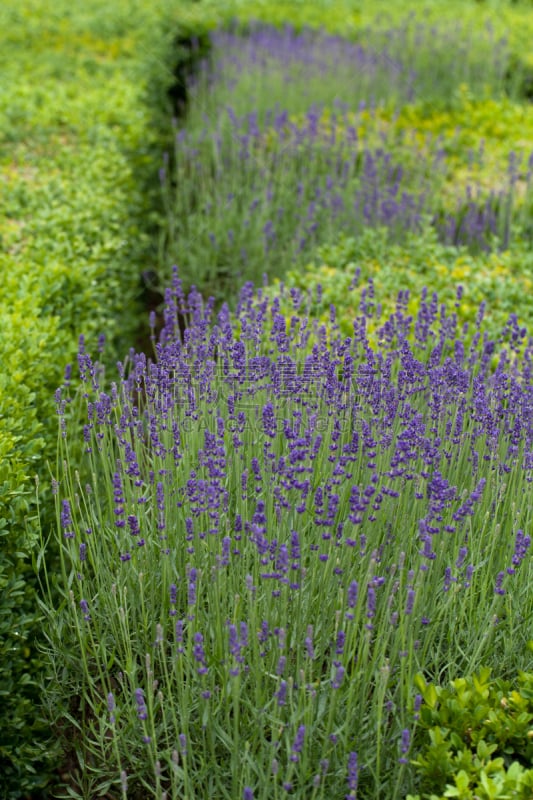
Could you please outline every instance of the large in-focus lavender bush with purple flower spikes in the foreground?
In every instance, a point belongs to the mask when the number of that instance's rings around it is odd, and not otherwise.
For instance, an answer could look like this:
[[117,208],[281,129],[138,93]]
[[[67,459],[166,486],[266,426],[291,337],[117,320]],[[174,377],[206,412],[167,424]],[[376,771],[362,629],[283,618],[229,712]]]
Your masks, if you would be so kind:
[[80,348],[43,573],[69,796],[405,797],[415,676],[531,668],[533,340],[511,318],[492,372],[483,309],[465,347],[400,292],[372,349],[351,290],[347,338],[175,274],[153,360]]

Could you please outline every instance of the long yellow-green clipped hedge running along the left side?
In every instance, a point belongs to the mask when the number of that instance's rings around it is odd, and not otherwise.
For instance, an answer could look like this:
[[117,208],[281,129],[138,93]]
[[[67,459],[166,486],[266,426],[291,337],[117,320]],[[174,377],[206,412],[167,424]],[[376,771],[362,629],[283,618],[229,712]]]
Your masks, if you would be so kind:
[[141,276],[157,267],[158,168],[179,32],[167,6],[6,0],[0,8],[1,798],[43,789],[54,766],[36,713],[34,476],[46,534],[54,391],[80,334],[93,350],[105,334],[108,363],[131,345]]

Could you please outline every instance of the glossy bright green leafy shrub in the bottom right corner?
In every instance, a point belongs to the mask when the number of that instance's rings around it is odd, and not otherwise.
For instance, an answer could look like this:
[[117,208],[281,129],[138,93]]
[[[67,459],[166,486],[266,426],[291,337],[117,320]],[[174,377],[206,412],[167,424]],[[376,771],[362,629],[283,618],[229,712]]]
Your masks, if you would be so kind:
[[[528,800],[533,791],[533,674],[491,680],[482,669],[449,686],[415,679],[422,704],[413,759],[422,795],[408,800]],[[423,734],[423,738],[422,738]],[[428,742],[429,739],[429,742]]]

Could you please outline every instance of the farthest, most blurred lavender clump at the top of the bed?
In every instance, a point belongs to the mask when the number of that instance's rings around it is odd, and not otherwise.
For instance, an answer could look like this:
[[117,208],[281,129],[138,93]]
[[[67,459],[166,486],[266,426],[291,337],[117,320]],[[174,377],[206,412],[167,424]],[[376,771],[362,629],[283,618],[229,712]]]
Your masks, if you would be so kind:
[[502,93],[508,45],[490,24],[473,31],[412,14],[396,24],[378,18],[351,36],[253,21],[214,31],[212,58],[191,87],[189,124],[202,128],[226,105],[237,115],[255,109],[262,123],[276,104],[294,113],[333,99],[352,110],[361,102],[446,105],[460,84],[480,97]]

